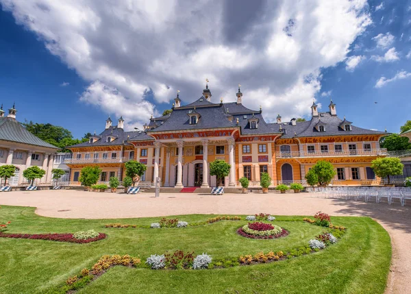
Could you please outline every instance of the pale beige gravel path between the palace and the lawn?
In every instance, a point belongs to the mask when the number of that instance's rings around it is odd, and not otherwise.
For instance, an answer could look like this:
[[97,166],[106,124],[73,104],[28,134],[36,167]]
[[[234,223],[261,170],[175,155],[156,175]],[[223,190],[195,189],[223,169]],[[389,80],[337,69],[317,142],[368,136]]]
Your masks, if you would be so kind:
[[324,199],[316,193],[226,194],[189,193],[126,195],[84,191],[16,191],[0,193],[0,204],[34,206],[45,217],[110,219],[166,215],[216,214],[313,215],[316,211],[338,216],[369,216],[388,231],[393,260],[386,293],[411,293],[411,205],[364,203]]

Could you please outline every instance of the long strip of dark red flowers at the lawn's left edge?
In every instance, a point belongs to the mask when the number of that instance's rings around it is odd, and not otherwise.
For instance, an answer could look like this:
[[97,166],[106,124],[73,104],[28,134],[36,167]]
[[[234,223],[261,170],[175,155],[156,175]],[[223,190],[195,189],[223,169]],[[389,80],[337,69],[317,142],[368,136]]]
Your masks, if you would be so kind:
[[95,238],[89,238],[86,240],[79,240],[73,237],[73,234],[10,234],[0,232],[0,238],[21,238],[21,239],[34,239],[34,240],[49,240],[57,242],[69,242],[69,243],[90,243],[102,240],[106,235],[99,233],[99,236]]

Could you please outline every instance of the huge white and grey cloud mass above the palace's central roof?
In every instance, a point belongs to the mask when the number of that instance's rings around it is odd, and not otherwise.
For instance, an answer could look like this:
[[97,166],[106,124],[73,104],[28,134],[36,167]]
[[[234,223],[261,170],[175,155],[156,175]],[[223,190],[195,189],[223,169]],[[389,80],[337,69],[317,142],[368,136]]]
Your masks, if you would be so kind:
[[207,77],[214,102],[235,101],[242,84],[245,106],[262,104],[268,121],[309,114],[321,69],[346,60],[372,23],[366,0],[39,2],[0,0],[89,82],[82,102],[130,125],[171,106],[177,89],[198,99]]

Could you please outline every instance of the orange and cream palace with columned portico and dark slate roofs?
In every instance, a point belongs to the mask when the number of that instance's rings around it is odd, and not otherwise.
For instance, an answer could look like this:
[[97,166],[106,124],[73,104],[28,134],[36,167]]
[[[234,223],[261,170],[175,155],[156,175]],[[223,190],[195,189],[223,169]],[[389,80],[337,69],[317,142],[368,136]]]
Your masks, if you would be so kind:
[[[125,176],[124,163],[137,160],[147,164],[142,182],[160,177],[161,185],[182,188],[216,186],[209,164],[222,159],[231,164],[225,186],[240,186],[238,179],[247,177],[251,186],[259,186],[260,174],[267,172],[273,186],[280,183],[305,182],[304,177],[318,160],[332,162],[336,168],[333,184],[377,184],[371,161],[386,156],[379,148],[379,138],[386,132],[356,127],[337,116],[336,104],[328,112],[311,106],[310,121],[266,123],[262,109],[242,105],[238,88],[236,101],[213,101],[208,85],[199,99],[182,105],[179,93],[173,112],[151,118],[144,130],[125,132],[124,120],[112,125],[90,141],[69,147],[73,157],[65,163],[71,168],[71,182],[78,182],[87,165],[98,165],[101,182],[110,177]],[[78,183],[79,184],[79,183]]]

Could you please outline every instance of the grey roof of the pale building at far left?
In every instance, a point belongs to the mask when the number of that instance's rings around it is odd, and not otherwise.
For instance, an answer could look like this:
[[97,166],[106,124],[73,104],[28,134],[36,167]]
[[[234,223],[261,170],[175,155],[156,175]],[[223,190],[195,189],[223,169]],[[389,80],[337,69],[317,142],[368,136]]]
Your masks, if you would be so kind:
[[15,119],[0,117],[0,140],[59,149],[30,133]]

